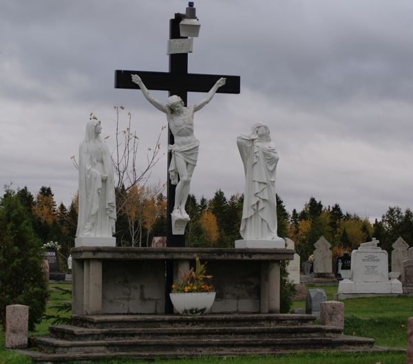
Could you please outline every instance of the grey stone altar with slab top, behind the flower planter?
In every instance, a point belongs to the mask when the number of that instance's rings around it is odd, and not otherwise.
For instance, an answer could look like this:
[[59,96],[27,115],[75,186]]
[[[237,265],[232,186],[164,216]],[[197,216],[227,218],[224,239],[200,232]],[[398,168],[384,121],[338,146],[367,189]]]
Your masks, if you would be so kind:
[[294,253],[251,248],[73,248],[72,314],[164,314],[167,261],[178,272],[193,266],[195,257],[207,261],[213,275],[217,292],[213,313],[278,313],[279,261],[292,260]]

